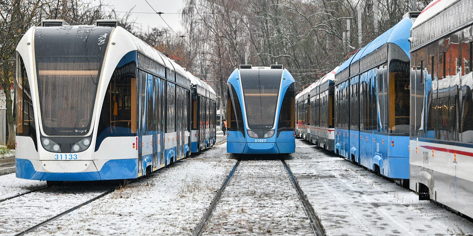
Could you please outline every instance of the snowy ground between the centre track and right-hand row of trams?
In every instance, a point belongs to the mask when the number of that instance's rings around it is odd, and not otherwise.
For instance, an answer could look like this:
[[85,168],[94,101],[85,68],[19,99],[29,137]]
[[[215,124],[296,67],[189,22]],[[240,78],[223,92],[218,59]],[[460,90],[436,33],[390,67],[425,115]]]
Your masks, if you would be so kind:
[[472,235],[473,223],[348,160],[296,140],[287,160],[328,236]]

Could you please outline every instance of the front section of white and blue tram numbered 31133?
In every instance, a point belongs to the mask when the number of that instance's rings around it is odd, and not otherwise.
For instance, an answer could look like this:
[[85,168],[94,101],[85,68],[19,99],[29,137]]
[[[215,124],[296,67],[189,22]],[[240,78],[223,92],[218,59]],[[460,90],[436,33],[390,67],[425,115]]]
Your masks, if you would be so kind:
[[191,80],[122,27],[31,27],[15,90],[19,178],[131,179],[192,152]]

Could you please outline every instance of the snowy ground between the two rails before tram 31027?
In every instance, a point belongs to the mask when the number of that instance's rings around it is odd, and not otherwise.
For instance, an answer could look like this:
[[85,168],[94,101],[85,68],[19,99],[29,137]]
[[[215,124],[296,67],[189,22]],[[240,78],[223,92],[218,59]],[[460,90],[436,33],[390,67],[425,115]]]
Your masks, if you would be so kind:
[[313,235],[280,160],[241,161],[202,233],[241,234]]

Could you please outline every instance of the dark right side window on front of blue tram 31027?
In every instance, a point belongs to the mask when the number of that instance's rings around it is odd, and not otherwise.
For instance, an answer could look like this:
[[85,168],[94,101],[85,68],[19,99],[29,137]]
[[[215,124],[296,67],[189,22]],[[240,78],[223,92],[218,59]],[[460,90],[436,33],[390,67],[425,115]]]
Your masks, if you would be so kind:
[[[294,100],[296,97],[295,85],[289,85],[282,99],[279,113],[278,134],[284,130],[294,130]],[[312,102],[313,103],[313,102]]]

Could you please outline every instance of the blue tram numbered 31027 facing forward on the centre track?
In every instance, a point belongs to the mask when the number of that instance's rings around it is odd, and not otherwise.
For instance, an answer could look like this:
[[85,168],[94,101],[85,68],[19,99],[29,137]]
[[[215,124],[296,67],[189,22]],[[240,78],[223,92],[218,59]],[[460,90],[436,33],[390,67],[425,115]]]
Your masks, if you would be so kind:
[[227,84],[227,152],[294,152],[295,81],[289,71],[241,65]]

